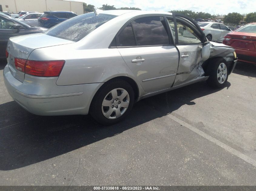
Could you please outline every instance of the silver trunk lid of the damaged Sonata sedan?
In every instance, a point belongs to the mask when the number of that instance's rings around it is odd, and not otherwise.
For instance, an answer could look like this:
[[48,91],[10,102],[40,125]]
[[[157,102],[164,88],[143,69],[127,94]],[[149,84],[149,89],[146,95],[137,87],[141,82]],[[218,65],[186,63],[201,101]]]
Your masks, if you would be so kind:
[[27,60],[30,53],[35,49],[69,43],[74,42],[70,40],[45,35],[43,33],[36,33],[10,38],[7,45],[7,50],[9,53],[7,62],[12,75],[17,80],[21,82],[24,81],[25,73],[15,68],[15,58]]

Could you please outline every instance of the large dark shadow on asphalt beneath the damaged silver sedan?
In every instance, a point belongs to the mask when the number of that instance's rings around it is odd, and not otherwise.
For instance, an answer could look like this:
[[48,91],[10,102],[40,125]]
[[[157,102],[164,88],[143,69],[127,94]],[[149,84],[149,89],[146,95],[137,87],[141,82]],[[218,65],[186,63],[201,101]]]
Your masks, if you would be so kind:
[[[230,83],[227,83],[228,88]],[[36,116],[15,101],[0,105],[0,170],[45,161],[165,116],[216,89],[199,82],[141,100],[126,120],[102,126],[87,116]],[[160,109],[159,109],[160,108]]]

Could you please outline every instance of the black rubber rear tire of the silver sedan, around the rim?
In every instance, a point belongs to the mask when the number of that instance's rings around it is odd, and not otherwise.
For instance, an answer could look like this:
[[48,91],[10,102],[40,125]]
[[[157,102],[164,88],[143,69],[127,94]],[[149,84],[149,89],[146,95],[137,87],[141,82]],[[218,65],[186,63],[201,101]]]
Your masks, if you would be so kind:
[[[120,117],[118,117],[116,119],[109,119],[109,118],[105,117],[103,114],[103,110],[104,110],[104,107],[102,106],[103,100],[105,99],[105,97],[107,95],[110,95],[109,94],[110,91],[112,91],[114,89],[118,89],[118,88],[124,89],[128,92],[129,105],[127,108],[125,108],[125,112]],[[111,98],[111,100],[112,99],[113,99],[113,97]],[[126,98],[124,98],[124,99],[126,99]],[[121,101],[123,101],[123,100],[121,100]],[[117,101],[115,101],[115,102],[117,102]],[[131,85],[127,81],[122,80],[122,79],[111,80],[111,81],[108,81],[105,84],[103,84],[103,86],[97,91],[97,93],[93,97],[93,99],[91,101],[91,106],[90,106],[90,114],[96,121],[98,121],[98,123],[101,123],[103,125],[111,125],[111,124],[118,123],[119,121],[123,120],[131,112],[133,103],[134,103],[134,91],[133,91]],[[114,104],[115,103],[113,103],[113,106],[114,106]],[[122,111],[122,109],[124,109],[124,108],[120,107],[119,100],[118,100],[118,106],[119,106],[118,107],[119,110]],[[111,109],[111,107],[107,107],[107,110]],[[115,108],[116,108],[116,106],[113,109],[115,110]],[[116,108],[116,109],[118,109],[118,108]],[[116,115],[115,111],[114,111],[114,113],[112,113],[112,115],[113,114],[115,117],[115,115]]]

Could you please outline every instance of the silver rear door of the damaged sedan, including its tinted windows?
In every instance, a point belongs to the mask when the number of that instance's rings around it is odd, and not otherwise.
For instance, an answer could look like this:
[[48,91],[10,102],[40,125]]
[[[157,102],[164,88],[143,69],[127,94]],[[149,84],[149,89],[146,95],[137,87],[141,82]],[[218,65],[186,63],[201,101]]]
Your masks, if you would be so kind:
[[178,69],[178,51],[162,15],[140,16],[116,35],[119,53],[145,92],[170,88]]

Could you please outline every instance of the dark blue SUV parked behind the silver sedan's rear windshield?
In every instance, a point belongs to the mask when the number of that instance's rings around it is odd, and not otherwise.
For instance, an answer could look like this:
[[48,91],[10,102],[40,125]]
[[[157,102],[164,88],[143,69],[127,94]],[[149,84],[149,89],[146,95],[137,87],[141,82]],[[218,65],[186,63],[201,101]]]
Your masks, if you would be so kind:
[[45,11],[44,14],[38,18],[38,26],[51,28],[54,25],[75,16],[77,16],[77,14],[71,11]]

